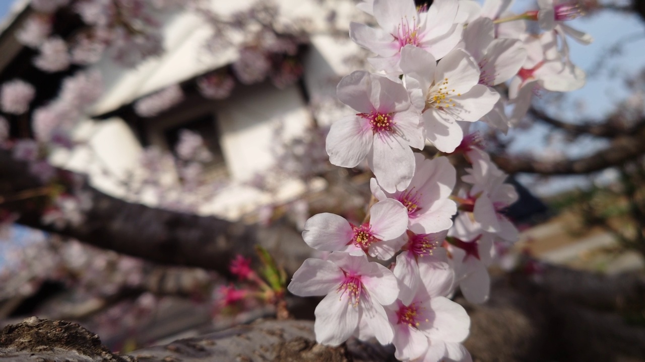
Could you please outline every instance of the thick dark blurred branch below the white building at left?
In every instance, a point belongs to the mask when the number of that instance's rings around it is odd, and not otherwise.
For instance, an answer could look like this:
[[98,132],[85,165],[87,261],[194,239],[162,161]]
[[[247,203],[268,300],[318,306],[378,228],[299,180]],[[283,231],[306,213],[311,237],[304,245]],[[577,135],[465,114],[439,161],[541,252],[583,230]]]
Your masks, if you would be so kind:
[[[26,162],[0,151],[0,193],[15,193],[44,186],[28,171]],[[92,195],[92,208],[81,225],[54,229],[41,220],[43,205],[25,200],[3,207],[19,213],[17,222],[75,238],[81,242],[137,256],[156,263],[201,267],[228,275],[228,263],[236,254],[254,256],[260,243],[294,272],[310,253],[291,227],[277,224],[263,228],[133,204],[84,186]]]

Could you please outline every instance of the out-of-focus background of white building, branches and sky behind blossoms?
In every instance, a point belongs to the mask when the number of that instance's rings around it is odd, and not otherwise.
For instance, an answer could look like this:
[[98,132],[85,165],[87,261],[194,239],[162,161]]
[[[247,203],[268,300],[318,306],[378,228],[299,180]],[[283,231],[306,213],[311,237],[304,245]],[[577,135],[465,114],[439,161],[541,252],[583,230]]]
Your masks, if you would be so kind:
[[[645,361],[645,3],[578,3],[586,86],[478,128],[522,233],[490,301],[457,296],[477,361]],[[0,0],[0,325],[74,320],[128,352],[272,316],[230,263],[259,267],[259,242],[292,274],[309,216],[370,198],[324,149],[336,84],[369,67],[355,5]]]

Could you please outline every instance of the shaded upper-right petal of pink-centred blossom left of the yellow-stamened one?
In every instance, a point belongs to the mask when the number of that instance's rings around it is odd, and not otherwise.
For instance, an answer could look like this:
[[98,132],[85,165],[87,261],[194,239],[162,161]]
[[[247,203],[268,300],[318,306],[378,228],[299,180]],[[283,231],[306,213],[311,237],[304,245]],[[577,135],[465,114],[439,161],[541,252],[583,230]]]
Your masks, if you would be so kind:
[[[372,94],[370,100],[379,113],[394,113],[410,108],[408,91],[400,82],[372,74]],[[395,114],[397,117],[398,113]]]

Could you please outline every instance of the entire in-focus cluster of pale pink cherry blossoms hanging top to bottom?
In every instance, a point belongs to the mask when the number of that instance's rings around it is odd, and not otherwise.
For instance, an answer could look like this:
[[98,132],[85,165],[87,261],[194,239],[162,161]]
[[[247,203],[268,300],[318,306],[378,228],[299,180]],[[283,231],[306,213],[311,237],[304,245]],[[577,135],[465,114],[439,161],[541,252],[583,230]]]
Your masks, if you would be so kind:
[[[449,298],[459,289],[473,303],[488,299],[495,245],[518,238],[504,213],[518,196],[468,128],[482,120],[506,132],[536,91],[581,87],[564,37],[591,41],[564,24],[582,14],[575,1],[539,0],[520,15],[511,3],[359,5],[378,27],[352,23],[350,37],[375,53],[368,61],[378,73],[354,71],[338,84],[354,114],[332,125],[326,151],[336,166],[366,161],[375,203],[362,223],[323,213],[305,224],[304,241],[330,254],[306,260],[288,289],[325,296],[315,309],[319,343],[376,338],[402,361],[471,360],[461,345],[470,318]],[[526,21],[544,32],[527,33]],[[505,82],[508,98],[495,88]],[[439,150],[432,160],[412,150],[428,144]],[[460,186],[450,153],[470,163]]]

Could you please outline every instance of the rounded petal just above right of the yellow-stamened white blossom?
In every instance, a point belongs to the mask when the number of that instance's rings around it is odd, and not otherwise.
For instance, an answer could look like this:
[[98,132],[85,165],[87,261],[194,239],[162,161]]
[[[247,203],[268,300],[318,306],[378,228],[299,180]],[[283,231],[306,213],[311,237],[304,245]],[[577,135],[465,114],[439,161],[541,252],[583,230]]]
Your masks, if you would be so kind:
[[497,39],[487,49],[488,63],[482,68],[493,75],[492,85],[496,86],[511,79],[526,61],[526,50],[522,42],[514,39]]

